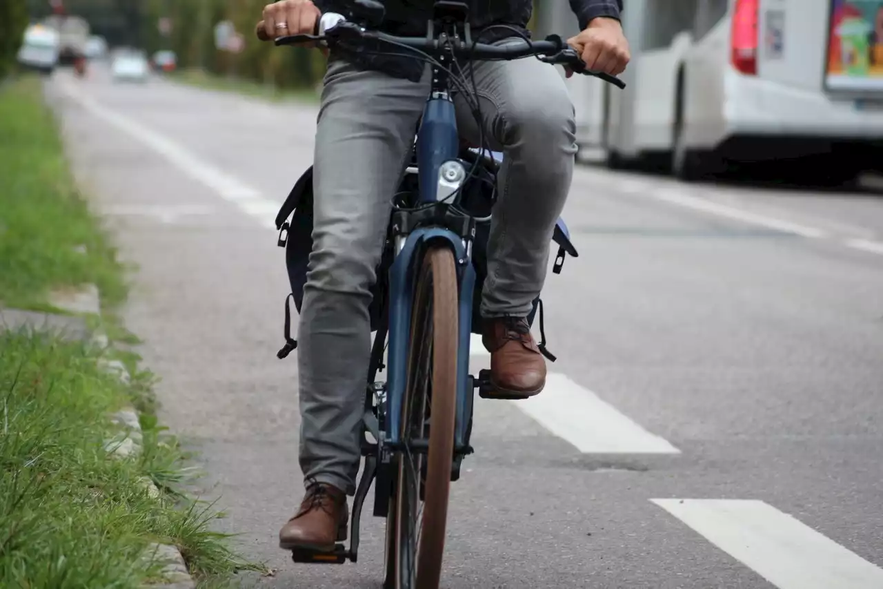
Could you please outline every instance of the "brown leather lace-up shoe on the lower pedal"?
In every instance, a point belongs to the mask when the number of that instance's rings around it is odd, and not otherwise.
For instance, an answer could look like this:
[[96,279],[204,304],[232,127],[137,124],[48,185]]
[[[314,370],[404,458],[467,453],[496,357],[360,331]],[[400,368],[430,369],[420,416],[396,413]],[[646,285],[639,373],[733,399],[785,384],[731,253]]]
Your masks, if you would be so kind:
[[279,547],[332,552],[346,539],[349,509],[346,494],[334,486],[315,483],[306,489],[298,513],[279,531]]

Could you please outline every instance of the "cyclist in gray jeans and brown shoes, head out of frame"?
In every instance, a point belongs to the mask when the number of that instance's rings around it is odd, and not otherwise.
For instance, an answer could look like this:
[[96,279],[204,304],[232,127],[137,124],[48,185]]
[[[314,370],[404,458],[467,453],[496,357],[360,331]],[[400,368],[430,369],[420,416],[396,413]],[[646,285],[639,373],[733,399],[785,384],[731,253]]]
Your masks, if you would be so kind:
[[[268,4],[262,39],[313,33],[323,11],[345,13],[344,0]],[[432,0],[387,0],[381,30],[426,34]],[[532,0],[472,1],[472,36],[505,43],[526,34]],[[568,43],[595,71],[622,73],[629,47],[622,0],[570,0],[582,32]],[[546,363],[525,316],[546,278],[555,221],[570,188],[576,123],[555,67],[537,59],[471,65],[484,136],[503,151],[498,203],[488,242],[481,316],[491,381],[507,394],[542,391]],[[334,549],[346,538],[346,495],[355,493],[365,375],[368,305],[396,190],[428,95],[425,64],[411,57],[343,56],[332,50],[325,74],[313,167],[313,253],[298,339],[300,467],[306,494],[279,532],[285,549]],[[464,138],[478,123],[455,99]]]

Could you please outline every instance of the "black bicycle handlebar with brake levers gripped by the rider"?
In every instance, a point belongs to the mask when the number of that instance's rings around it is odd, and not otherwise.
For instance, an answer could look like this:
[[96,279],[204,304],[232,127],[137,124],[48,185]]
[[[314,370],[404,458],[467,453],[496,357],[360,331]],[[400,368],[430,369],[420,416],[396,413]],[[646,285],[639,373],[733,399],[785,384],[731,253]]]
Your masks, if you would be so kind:
[[[509,42],[506,45],[490,45],[487,43],[468,43],[458,38],[446,37],[434,39],[430,37],[400,37],[394,34],[381,33],[380,31],[360,27],[343,18],[342,15],[326,12],[316,23],[316,34],[289,34],[275,39],[276,46],[294,45],[303,42],[326,42],[329,46],[335,44],[344,45],[351,43],[358,49],[364,49],[366,42],[386,42],[399,47],[407,47],[412,50],[422,51],[433,57],[451,55],[476,59],[479,61],[509,60],[521,57],[540,57],[547,64],[566,65],[573,73],[582,73],[594,76],[613,84],[617,88],[625,88],[625,82],[619,78],[603,72],[592,72],[587,69],[585,62],[579,57],[576,50],[570,48],[562,38],[557,35],[549,35],[544,41],[526,41],[513,38],[517,43]],[[262,27],[258,27],[258,36],[265,38]]]

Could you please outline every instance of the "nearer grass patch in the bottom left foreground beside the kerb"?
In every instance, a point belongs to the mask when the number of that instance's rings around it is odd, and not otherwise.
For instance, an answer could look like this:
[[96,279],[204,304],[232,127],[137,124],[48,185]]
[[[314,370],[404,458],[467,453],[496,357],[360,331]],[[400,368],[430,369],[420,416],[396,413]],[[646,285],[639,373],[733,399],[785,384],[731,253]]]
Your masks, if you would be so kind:
[[209,530],[211,506],[177,492],[185,455],[155,417],[141,417],[138,457],[109,458],[105,417],[144,406],[145,389],[143,376],[126,386],[95,360],[47,334],[0,335],[0,586],[138,587],[156,578],[140,558],[151,541],[179,547],[204,578],[254,568]]

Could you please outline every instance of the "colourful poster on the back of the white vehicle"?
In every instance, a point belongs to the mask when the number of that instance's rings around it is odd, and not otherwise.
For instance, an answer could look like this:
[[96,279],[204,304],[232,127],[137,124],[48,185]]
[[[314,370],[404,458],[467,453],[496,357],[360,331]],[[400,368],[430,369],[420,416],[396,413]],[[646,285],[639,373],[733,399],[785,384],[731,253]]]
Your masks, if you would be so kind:
[[833,0],[825,85],[883,90],[883,0]]

